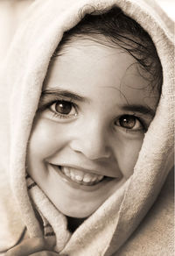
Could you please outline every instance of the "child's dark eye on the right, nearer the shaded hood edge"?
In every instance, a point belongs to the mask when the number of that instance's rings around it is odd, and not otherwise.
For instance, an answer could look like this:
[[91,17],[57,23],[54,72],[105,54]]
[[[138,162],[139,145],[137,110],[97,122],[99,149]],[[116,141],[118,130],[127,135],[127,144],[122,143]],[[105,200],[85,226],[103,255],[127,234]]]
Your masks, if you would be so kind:
[[143,124],[135,116],[124,115],[116,120],[116,125],[132,131],[140,131],[144,129]]

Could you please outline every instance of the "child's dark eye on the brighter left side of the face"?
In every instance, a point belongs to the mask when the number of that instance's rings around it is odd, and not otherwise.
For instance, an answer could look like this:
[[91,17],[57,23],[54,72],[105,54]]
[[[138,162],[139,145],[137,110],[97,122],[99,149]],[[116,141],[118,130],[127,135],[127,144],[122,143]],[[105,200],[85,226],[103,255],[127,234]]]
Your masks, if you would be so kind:
[[51,106],[51,110],[60,116],[76,116],[76,110],[71,102],[57,101]]

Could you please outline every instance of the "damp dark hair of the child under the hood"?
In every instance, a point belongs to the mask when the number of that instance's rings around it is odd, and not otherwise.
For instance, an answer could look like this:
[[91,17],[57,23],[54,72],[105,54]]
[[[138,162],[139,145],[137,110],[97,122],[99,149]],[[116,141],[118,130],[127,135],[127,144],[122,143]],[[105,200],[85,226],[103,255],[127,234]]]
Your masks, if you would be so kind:
[[[106,40],[102,41],[99,35],[105,36]],[[161,94],[163,72],[156,47],[148,32],[134,19],[126,16],[117,7],[100,15],[87,14],[78,25],[64,33],[53,57],[58,56],[62,47],[69,44],[73,38],[82,39],[86,36],[103,45],[120,46],[130,53],[140,64],[139,67],[151,75],[151,89],[156,88],[159,95]]]

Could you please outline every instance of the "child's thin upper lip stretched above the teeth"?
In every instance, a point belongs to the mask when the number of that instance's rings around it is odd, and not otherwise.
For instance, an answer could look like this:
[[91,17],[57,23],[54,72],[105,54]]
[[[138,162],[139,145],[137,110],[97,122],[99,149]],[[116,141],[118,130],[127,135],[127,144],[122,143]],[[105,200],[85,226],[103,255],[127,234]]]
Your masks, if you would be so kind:
[[[85,172],[85,173],[88,173],[88,174],[98,174],[98,175],[103,175],[103,176],[108,176],[108,177],[113,177],[113,178],[116,178],[115,176],[112,176],[112,175],[106,175],[106,171],[102,171],[102,167],[98,167],[99,171],[92,168],[92,167],[84,167],[84,165],[70,165],[70,164],[57,164],[57,163],[50,163],[52,164],[53,166],[57,166],[57,167],[69,167],[69,168],[74,168],[74,169],[77,169],[77,170],[80,170],[82,172]],[[82,167],[83,166],[83,167]]]

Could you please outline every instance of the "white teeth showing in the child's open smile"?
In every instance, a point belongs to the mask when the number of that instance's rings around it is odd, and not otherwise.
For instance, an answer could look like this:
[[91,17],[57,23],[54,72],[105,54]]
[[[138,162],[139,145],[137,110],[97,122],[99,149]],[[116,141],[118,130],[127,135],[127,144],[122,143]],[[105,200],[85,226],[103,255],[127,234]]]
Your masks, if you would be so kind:
[[96,182],[102,181],[103,175],[98,174],[86,174],[81,170],[77,170],[71,167],[61,167],[61,171],[66,174],[71,180],[77,181],[81,184],[93,185]]

